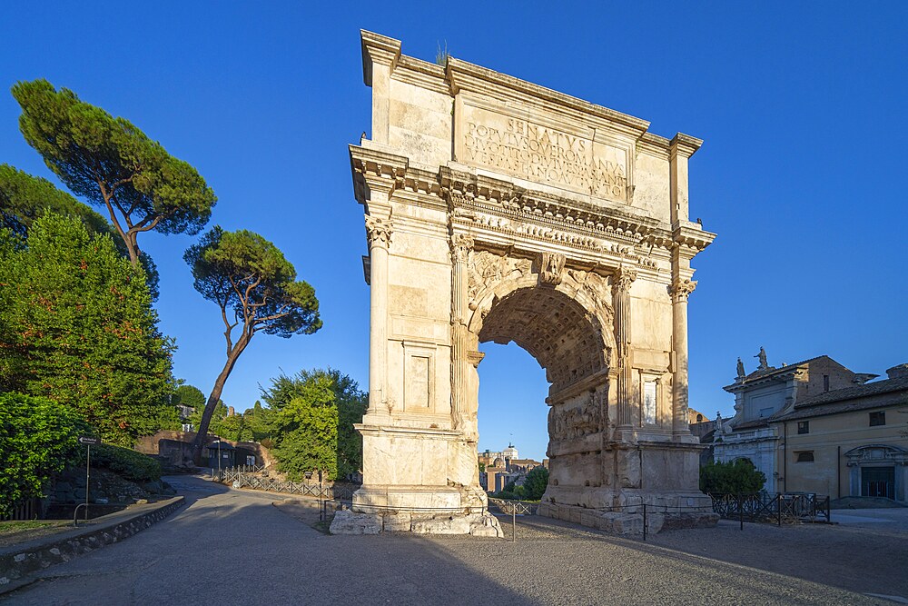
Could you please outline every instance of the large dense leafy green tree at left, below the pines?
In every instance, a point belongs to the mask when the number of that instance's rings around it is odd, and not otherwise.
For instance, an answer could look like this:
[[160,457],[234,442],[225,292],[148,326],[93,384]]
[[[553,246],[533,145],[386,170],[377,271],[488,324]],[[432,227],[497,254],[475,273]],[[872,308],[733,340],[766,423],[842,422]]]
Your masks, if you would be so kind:
[[0,230],[0,391],[80,412],[105,442],[132,446],[172,422],[172,345],[141,266],[79,220],[44,214],[25,247]]

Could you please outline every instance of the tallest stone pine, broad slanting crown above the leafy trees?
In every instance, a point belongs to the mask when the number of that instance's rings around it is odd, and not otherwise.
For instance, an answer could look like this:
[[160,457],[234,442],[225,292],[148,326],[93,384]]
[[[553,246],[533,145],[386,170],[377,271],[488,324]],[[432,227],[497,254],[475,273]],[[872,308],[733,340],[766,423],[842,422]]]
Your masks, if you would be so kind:
[[46,80],[19,82],[13,96],[25,141],[74,194],[106,208],[133,265],[139,233],[195,234],[208,223],[217,198],[202,176],[128,120]]

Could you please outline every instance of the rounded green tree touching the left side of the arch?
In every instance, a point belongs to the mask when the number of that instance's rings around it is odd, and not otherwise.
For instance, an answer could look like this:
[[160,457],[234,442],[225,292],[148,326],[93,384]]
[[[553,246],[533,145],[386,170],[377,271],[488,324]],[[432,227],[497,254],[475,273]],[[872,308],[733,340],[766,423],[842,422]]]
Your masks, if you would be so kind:
[[281,373],[262,392],[271,409],[278,469],[299,479],[321,470],[328,480],[360,471],[362,439],[353,428],[362,422],[368,397],[340,371]]

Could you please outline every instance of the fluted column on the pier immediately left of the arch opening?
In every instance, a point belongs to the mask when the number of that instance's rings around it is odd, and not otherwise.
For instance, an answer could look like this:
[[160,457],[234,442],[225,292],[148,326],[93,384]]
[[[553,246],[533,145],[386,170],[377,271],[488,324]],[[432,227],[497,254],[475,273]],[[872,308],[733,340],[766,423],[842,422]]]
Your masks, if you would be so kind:
[[[469,387],[469,330],[467,328],[469,253],[473,239],[466,233],[451,236],[451,422],[454,429],[469,434],[467,390]],[[469,437],[469,436],[468,436]]]

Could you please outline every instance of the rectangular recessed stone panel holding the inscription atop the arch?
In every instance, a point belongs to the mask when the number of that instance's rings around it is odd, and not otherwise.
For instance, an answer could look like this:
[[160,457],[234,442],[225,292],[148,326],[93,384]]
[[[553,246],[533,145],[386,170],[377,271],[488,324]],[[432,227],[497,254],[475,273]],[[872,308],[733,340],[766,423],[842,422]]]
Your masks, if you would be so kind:
[[629,146],[599,141],[592,129],[568,131],[531,118],[459,104],[458,162],[502,174],[627,202]]

